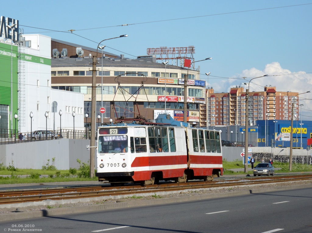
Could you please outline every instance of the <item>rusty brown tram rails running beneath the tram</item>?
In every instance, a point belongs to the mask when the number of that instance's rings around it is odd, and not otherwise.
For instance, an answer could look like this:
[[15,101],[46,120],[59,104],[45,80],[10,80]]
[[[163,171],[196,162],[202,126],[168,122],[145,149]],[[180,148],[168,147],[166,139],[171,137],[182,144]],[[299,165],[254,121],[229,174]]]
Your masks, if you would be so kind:
[[85,186],[71,188],[32,189],[0,192],[0,208],[2,204],[35,202],[46,200],[65,200],[76,198],[92,198],[100,196],[139,195],[157,192],[181,191],[187,189],[222,188],[289,181],[312,180],[310,175],[266,176],[257,178],[235,178],[217,181],[190,181],[186,183],[160,183],[158,185],[127,186]]

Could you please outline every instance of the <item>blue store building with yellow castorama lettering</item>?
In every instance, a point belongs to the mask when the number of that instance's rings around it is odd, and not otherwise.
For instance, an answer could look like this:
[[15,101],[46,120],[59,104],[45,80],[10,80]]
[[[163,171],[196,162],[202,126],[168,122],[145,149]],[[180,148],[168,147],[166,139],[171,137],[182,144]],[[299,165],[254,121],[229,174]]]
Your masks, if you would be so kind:
[[[293,148],[305,149],[308,139],[312,136],[312,121],[293,121],[291,132],[290,120],[262,120],[257,121],[258,146],[290,147],[291,133],[293,136]],[[310,140],[309,140],[310,141]]]

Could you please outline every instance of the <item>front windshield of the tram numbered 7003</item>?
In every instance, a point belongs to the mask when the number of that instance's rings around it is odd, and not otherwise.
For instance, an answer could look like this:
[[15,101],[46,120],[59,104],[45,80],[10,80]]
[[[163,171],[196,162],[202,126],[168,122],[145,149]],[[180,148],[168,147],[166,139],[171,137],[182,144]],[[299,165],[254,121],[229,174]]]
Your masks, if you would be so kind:
[[99,153],[128,152],[127,135],[101,135],[99,136]]

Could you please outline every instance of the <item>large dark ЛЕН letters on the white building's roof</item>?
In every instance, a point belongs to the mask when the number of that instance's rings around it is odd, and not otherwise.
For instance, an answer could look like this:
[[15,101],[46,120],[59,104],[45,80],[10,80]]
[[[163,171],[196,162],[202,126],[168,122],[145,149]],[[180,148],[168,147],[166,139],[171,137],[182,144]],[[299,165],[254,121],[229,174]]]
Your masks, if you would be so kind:
[[18,41],[18,20],[1,16],[0,37]]

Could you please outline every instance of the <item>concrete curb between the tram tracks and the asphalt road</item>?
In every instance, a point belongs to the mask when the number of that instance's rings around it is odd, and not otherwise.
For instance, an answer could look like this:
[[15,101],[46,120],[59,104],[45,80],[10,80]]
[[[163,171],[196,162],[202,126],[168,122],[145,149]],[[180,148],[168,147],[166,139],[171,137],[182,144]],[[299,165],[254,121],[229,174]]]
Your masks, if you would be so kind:
[[105,210],[140,207],[140,206],[164,205],[164,204],[178,203],[178,202],[185,202],[185,201],[199,201],[199,200],[206,200],[206,199],[212,199],[212,198],[241,196],[241,195],[248,195],[248,194],[259,194],[259,193],[271,192],[271,191],[305,189],[305,188],[311,188],[311,187],[312,187],[312,184],[297,185],[297,186],[294,185],[294,186],[272,187],[272,188],[266,188],[266,189],[250,189],[250,190],[244,190],[244,191],[234,191],[234,192],[229,192],[229,193],[205,194],[205,195],[200,195],[200,196],[159,198],[159,199],[154,199],[154,200],[125,201],[125,202],[116,202],[112,204],[99,204],[99,205],[92,205],[92,206],[74,206],[74,207],[40,210],[40,211],[5,213],[5,214],[0,214],[0,222],[12,221],[12,220],[18,220],[18,219],[56,216],[56,215],[64,215],[64,214],[85,213],[85,212],[92,212],[92,211],[105,211]]

